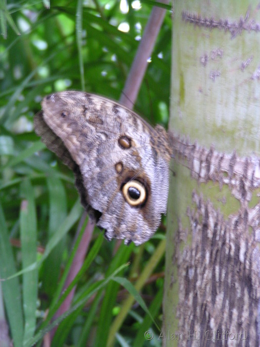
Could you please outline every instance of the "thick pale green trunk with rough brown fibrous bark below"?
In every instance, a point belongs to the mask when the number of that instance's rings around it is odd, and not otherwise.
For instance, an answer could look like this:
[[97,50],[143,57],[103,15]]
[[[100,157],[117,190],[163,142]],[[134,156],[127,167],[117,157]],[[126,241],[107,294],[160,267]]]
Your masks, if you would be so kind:
[[173,3],[164,346],[260,345],[260,7]]

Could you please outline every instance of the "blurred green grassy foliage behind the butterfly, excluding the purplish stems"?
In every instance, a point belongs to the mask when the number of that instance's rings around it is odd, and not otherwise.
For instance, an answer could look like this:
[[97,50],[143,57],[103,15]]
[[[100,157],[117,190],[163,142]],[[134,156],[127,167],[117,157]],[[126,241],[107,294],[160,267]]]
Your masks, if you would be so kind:
[[[82,232],[83,209],[73,174],[36,136],[33,116],[43,96],[65,89],[118,100],[154,3],[0,0],[0,278],[33,264],[30,271],[0,282],[0,321],[7,322],[15,347],[40,346],[50,331],[64,300],[58,298],[77,249],[76,231]],[[170,15],[168,9],[134,107],[150,123],[165,126]],[[52,346],[106,346],[113,336],[115,346],[161,345],[154,321],[161,326],[162,229],[144,245],[121,244],[116,250],[116,241],[107,242],[95,230],[84,269],[75,279],[71,312]],[[123,279],[135,284],[145,274],[149,279],[141,296],[154,321],[138,298],[115,328],[114,317],[132,290]],[[144,335],[148,330],[155,334],[151,341]]]

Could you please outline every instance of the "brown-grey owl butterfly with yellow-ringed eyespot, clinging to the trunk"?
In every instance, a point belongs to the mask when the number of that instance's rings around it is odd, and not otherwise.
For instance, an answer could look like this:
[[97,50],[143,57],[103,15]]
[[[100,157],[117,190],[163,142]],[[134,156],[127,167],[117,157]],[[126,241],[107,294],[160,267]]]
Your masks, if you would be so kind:
[[51,94],[36,133],[75,173],[81,203],[105,237],[147,241],[166,213],[171,151],[166,131],[107,98]]

